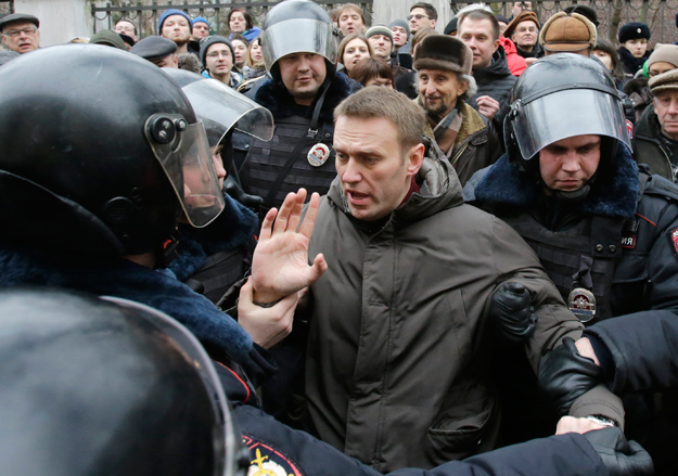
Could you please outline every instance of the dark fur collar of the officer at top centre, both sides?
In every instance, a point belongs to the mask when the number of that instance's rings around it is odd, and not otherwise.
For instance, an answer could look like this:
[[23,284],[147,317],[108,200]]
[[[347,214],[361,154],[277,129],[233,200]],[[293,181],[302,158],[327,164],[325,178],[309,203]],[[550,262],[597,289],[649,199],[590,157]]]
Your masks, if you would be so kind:
[[[330,82],[330,89],[325,94],[324,104],[322,104],[322,110],[320,111],[320,120],[324,123],[334,120],[334,108],[348,97],[349,90],[348,77],[343,74],[334,74],[332,82]],[[268,78],[257,89],[254,101],[268,108],[273,115],[273,119],[300,115],[300,110],[292,95],[272,78]]]

